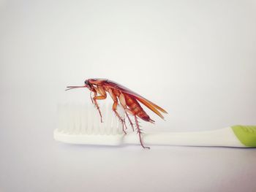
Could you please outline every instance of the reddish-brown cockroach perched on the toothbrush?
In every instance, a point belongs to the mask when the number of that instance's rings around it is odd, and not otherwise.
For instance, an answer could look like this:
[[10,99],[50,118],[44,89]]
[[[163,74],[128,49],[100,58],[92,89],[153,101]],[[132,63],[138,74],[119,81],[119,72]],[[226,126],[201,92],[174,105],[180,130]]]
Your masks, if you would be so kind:
[[[156,113],[162,119],[164,119],[164,117],[161,114],[161,112],[163,113],[167,113],[167,112],[163,110],[161,107],[159,107],[157,104],[154,104],[151,101],[148,101],[148,99],[145,99],[143,96],[140,96],[138,93],[135,93],[134,91],[129,90],[129,88],[126,88],[123,85],[113,82],[112,80],[89,79],[89,80],[86,80],[84,83],[85,85],[83,86],[68,86],[66,91],[73,88],[89,88],[89,91],[91,91],[91,102],[95,105],[95,107],[99,111],[101,122],[102,122],[102,113],[99,109],[99,104],[97,103],[97,100],[106,99],[107,93],[109,93],[111,98],[113,99],[112,110],[116,114],[117,118],[121,121],[124,134],[127,134],[127,132],[125,131],[127,129],[127,125],[125,121],[125,116],[126,116],[127,119],[129,120],[129,124],[132,126],[133,131],[135,131],[134,126],[136,126],[137,133],[140,139],[140,145],[143,148],[149,149],[149,147],[145,147],[143,145],[143,141],[141,137],[141,134],[143,134],[143,132],[139,126],[138,118],[148,121],[150,123],[154,123],[154,120],[152,120],[148,116],[148,114],[143,110],[143,108],[140,106],[140,103],[148,107],[151,111]],[[92,96],[92,93],[94,94],[93,96]],[[122,118],[121,115],[119,115],[116,110],[118,102],[121,104],[121,107],[124,108],[124,112],[125,112],[124,118]],[[129,115],[132,115],[134,117],[135,125],[134,123],[132,123],[132,120],[129,117]]]

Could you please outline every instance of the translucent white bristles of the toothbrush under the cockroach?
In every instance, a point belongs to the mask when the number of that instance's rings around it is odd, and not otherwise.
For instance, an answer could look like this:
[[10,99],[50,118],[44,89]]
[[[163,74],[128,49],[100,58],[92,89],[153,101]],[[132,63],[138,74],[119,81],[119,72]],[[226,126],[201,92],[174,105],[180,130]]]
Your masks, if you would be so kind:
[[[123,134],[122,125],[112,110],[112,104],[102,104],[102,123],[99,112],[93,104],[59,104],[58,132],[75,135]],[[124,117],[124,110],[118,107]]]

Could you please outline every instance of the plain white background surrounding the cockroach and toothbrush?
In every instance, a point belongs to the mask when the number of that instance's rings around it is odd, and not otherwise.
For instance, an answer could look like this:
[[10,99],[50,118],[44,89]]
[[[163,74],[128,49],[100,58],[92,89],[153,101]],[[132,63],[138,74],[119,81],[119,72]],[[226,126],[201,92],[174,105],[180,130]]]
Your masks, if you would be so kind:
[[254,149],[53,140],[90,77],[169,112],[145,131],[256,124],[255,34],[255,1],[0,1],[0,191],[255,191]]

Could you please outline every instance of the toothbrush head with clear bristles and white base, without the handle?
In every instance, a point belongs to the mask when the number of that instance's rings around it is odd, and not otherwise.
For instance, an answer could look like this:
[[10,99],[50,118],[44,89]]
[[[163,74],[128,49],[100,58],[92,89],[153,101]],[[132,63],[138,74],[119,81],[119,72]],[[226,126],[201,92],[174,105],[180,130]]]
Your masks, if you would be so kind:
[[[59,104],[54,139],[72,144],[120,145],[124,132],[111,107],[110,104],[102,105],[104,120],[100,123],[91,104]],[[117,110],[124,115],[121,107],[118,106]]]

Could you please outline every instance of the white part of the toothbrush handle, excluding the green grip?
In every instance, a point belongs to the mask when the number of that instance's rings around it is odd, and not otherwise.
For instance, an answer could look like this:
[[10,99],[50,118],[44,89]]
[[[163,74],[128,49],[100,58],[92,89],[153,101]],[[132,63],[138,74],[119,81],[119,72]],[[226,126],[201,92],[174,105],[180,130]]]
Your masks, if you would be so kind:
[[[128,136],[125,142],[138,144],[138,138]],[[143,134],[143,142],[145,145],[245,147],[230,127],[213,131]]]

